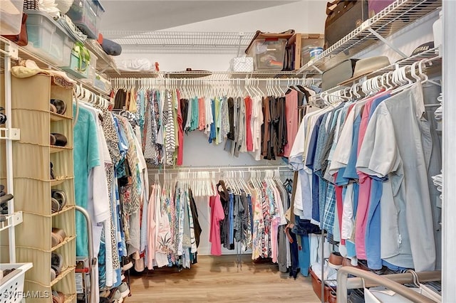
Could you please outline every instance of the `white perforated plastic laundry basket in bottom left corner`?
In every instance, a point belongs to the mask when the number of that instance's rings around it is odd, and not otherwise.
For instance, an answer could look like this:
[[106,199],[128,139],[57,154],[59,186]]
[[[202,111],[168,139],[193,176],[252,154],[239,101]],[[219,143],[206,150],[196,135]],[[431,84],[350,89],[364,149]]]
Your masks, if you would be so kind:
[[32,263],[2,263],[0,270],[11,270],[9,275],[0,280],[0,303],[19,303],[24,292],[24,277],[26,271],[33,267]]

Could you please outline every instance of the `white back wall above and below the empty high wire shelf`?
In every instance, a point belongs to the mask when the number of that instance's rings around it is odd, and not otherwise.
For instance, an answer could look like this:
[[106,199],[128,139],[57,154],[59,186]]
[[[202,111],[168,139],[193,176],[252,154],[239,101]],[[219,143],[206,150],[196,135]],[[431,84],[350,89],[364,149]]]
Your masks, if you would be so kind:
[[[233,1],[236,5],[236,1]],[[294,29],[298,33],[323,33],[326,18],[326,1],[299,1],[292,4],[274,6],[268,9],[249,11],[243,14],[214,18],[207,21],[166,28],[163,31],[227,31],[227,32],[281,32]],[[241,53],[244,49],[241,50]],[[180,71],[186,68],[193,70],[229,70],[229,60],[237,55],[232,53],[135,53],[125,49],[118,59],[147,58],[160,63],[160,70]]]

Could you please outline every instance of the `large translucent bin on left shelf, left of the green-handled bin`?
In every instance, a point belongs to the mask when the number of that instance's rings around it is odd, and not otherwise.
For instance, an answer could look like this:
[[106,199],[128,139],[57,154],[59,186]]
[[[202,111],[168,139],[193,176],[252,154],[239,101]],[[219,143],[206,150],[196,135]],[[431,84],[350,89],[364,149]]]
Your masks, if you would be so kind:
[[48,60],[53,65],[70,65],[74,40],[51,16],[42,11],[26,11],[27,50]]

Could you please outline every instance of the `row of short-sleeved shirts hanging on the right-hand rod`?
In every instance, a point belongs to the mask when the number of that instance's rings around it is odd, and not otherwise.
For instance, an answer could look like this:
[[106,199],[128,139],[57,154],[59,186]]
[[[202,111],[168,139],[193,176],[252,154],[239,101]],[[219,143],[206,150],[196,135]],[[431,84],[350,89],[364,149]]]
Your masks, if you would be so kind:
[[[435,268],[427,175],[437,140],[423,99],[415,83],[308,112],[290,151],[299,171],[296,218],[325,229],[347,257],[367,260],[373,270]],[[423,235],[427,241],[418,245]]]

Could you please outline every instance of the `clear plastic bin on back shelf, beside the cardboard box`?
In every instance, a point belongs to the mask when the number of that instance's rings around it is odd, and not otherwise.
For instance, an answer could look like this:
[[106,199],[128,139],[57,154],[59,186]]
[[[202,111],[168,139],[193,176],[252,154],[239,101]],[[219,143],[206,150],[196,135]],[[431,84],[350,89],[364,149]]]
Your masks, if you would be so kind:
[[284,68],[286,39],[257,39],[249,49],[255,70],[282,70]]

